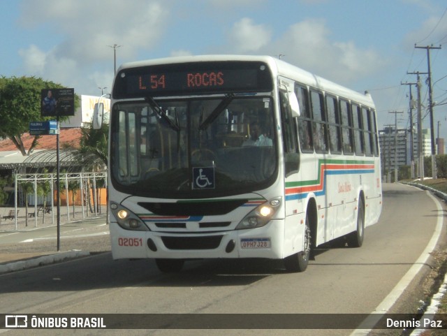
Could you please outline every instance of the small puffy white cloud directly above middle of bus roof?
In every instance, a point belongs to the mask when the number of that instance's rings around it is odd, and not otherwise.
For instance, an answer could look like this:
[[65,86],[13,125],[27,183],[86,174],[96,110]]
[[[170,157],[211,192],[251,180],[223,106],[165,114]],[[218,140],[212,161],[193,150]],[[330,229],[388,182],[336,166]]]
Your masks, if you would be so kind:
[[256,52],[267,45],[272,38],[270,28],[263,24],[254,24],[249,17],[235,22],[230,30],[229,40],[236,52]]

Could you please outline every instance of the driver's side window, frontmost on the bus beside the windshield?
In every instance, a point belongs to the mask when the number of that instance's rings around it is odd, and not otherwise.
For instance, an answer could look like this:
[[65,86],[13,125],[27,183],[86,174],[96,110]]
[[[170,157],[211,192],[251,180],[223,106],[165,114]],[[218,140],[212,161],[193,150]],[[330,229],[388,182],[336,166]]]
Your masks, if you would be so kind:
[[298,154],[298,139],[296,119],[292,117],[292,111],[288,103],[286,92],[280,92],[281,103],[281,129],[284,145],[284,163],[286,176],[297,173],[300,169],[300,154]]

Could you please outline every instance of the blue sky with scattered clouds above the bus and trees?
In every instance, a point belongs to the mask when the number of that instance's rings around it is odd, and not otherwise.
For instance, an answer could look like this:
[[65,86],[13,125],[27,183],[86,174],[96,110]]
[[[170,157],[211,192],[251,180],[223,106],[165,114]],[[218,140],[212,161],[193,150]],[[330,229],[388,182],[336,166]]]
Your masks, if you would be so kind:
[[[408,73],[430,64],[434,131],[447,138],[445,0],[0,0],[0,75],[76,94],[110,92],[116,66],[178,55],[267,54],[376,103],[379,129],[409,128]],[[116,45],[116,48],[113,48]],[[423,128],[427,75],[423,87]],[[415,112],[416,113],[416,112]],[[414,118],[416,121],[416,117]]]

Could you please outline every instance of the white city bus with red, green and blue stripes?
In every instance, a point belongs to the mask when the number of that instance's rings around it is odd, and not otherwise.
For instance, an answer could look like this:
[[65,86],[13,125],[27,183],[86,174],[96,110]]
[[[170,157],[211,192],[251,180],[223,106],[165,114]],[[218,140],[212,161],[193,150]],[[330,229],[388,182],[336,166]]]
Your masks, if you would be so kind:
[[307,268],[331,240],[362,245],[381,213],[376,112],[273,57],[122,65],[110,112],[112,256],[177,272],[196,258]]

